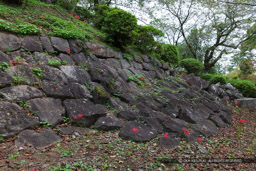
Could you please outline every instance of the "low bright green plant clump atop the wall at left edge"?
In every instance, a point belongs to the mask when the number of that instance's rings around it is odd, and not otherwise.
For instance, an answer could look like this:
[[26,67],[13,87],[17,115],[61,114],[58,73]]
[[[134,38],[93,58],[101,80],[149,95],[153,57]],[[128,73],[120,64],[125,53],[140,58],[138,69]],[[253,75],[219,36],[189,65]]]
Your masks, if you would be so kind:
[[33,24],[25,23],[21,20],[16,20],[15,23],[11,23],[2,19],[0,19],[0,31],[7,31],[20,35],[33,35],[41,33],[41,30]]

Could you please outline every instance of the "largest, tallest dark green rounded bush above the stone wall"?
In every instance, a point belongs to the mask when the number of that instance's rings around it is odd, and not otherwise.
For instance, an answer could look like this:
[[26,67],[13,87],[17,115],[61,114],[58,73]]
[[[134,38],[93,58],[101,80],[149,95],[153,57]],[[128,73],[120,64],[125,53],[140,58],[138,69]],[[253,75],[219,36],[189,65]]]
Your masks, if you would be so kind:
[[[134,15],[119,8],[109,8],[105,5],[98,6],[99,17],[95,25],[106,33],[106,42],[123,49],[133,43],[133,30],[137,26]],[[103,16],[102,16],[103,15]]]

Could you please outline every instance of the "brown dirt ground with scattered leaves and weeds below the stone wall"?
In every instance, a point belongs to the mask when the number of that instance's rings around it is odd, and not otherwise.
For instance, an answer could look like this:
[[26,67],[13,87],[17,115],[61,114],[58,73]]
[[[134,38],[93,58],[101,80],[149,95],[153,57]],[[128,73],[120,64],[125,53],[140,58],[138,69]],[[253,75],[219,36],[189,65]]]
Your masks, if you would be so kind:
[[221,128],[219,135],[201,142],[182,140],[174,149],[159,147],[163,135],[136,143],[122,140],[119,131],[60,135],[62,141],[46,149],[18,148],[15,138],[8,139],[0,143],[0,171],[256,170],[256,111],[234,107],[232,119],[232,126]]

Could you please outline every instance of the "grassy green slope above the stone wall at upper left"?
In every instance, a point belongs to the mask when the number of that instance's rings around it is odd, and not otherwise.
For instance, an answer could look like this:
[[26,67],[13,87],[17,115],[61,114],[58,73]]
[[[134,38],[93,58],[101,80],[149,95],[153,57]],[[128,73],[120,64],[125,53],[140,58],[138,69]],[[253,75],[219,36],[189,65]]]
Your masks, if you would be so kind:
[[70,16],[58,5],[29,0],[28,5],[8,6],[0,2],[0,31],[18,35],[45,34],[66,39],[98,42],[105,35],[87,22]]

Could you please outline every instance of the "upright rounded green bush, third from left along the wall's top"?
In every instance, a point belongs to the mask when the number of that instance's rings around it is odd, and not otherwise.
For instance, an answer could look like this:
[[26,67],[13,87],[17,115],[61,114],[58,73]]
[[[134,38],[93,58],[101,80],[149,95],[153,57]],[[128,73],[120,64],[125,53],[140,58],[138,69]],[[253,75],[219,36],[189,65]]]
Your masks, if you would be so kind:
[[158,59],[169,62],[173,66],[179,63],[179,52],[176,46],[171,44],[158,44],[156,53],[159,55]]

